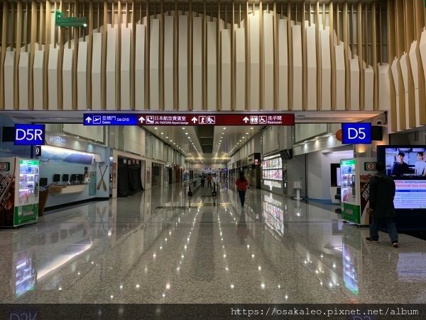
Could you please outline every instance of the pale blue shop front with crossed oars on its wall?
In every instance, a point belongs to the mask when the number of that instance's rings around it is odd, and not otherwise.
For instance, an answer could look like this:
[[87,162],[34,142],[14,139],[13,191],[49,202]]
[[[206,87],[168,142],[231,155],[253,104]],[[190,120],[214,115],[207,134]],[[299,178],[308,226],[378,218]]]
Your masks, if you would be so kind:
[[38,160],[40,190],[48,191],[46,209],[109,198],[107,147],[67,134],[46,132]]

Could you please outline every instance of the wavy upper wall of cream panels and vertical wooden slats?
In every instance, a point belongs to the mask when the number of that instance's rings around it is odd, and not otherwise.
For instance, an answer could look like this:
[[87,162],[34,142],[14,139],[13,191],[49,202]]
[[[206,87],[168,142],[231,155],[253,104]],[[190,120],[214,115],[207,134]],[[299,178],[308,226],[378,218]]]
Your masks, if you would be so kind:
[[[390,132],[426,124],[426,108],[421,107],[426,95],[425,9],[420,0],[380,4],[387,21],[376,18],[376,1],[344,1],[343,6],[340,1],[339,6],[336,1],[328,6],[288,1],[278,2],[278,10],[271,1],[251,1],[244,12],[233,3],[231,18],[229,4],[224,9],[212,2],[175,1],[174,11],[173,3],[163,1],[104,1],[102,6],[101,1],[62,0],[53,8],[50,1],[27,2],[2,3],[1,41],[11,42],[11,50],[3,46],[0,53],[0,109],[335,107],[389,110]],[[195,5],[199,10],[193,14]],[[178,7],[189,12],[182,15]],[[87,16],[89,28],[56,28],[57,9]],[[224,16],[233,25],[222,30]],[[138,20],[144,25],[136,27]],[[381,58],[382,28],[388,29],[383,32],[388,34],[383,47],[387,60],[397,58],[392,68]],[[4,73],[13,80],[6,82]]]

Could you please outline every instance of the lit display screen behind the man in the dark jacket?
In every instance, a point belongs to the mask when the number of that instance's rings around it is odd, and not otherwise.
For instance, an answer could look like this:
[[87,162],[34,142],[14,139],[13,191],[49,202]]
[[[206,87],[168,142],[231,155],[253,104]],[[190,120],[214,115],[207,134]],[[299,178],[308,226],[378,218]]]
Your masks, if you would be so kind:
[[395,209],[425,209],[426,146],[378,146],[377,158],[395,181]]

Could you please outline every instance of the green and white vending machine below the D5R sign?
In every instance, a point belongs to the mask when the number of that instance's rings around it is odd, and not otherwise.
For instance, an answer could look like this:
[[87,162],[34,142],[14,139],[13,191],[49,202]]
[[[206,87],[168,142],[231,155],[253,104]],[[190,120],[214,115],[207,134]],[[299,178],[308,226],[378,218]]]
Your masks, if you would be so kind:
[[0,227],[38,220],[39,161],[0,158]]

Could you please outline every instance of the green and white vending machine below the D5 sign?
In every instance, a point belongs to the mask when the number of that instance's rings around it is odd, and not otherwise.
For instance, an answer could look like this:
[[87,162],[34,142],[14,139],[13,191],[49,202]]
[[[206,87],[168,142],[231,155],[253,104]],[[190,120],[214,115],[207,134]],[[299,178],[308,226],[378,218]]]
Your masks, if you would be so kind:
[[370,178],[376,174],[376,159],[340,160],[342,218],[357,225],[369,225]]

